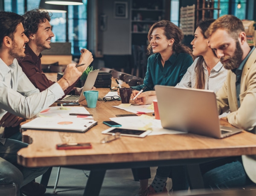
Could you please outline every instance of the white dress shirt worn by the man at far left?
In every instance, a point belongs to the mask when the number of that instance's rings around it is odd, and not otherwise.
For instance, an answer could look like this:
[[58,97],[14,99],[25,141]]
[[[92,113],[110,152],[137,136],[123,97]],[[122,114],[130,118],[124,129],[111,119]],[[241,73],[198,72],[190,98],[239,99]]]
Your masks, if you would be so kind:
[[6,112],[32,118],[63,95],[58,83],[39,92],[23,73],[16,59],[7,66],[0,58],[0,119]]

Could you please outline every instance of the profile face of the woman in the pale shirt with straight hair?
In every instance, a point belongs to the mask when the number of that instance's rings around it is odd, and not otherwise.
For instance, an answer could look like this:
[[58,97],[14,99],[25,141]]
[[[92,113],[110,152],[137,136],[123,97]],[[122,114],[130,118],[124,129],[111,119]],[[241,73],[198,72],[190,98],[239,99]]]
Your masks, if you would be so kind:
[[202,30],[199,27],[195,29],[194,39],[192,40],[191,45],[194,56],[204,56],[207,50],[210,49],[208,46],[208,39],[204,38]]

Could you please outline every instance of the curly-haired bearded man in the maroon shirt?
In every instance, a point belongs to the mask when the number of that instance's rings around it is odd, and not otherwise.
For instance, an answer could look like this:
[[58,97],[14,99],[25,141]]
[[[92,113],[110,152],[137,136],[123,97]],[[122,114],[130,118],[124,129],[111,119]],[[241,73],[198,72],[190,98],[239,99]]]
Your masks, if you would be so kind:
[[[51,30],[52,26],[49,23],[51,19],[47,11],[41,11],[39,9],[30,10],[26,12],[23,17],[25,18],[23,27],[25,29],[25,35],[29,38],[29,42],[26,44],[26,56],[24,58],[17,58],[17,61],[32,84],[34,84],[34,86],[41,92],[55,83],[46,77],[41,67],[41,52],[51,48],[51,38],[54,37]],[[79,64],[83,62],[85,63],[85,66],[89,66],[92,61],[93,56],[91,52],[86,49],[81,49]],[[72,90],[74,91],[74,94],[80,95],[82,88],[76,88],[74,87],[75,85],[76,82],[64,90],[65,95]],[[14,122],[13,118],[18,117],[15,117],[8,112],[2,120],[0,120],[0,123],[5,121],[5,124],[2,125],[5,127],[3,137],[21,141],[19,124],[23,119],[19,118],[18,121]]]

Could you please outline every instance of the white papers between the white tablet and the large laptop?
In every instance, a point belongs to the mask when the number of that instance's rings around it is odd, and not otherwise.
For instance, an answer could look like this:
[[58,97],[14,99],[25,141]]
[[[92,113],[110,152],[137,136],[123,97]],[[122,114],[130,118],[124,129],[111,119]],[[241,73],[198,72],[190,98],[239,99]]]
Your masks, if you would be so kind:
[[[149,118],[150,117],[150,118]],[[152,130],[148,135],[163,135],[163,134],[181,134],[184,132],[164,129],[160,120],[154,119],[151,116],[125,116],[109,118],[122,125],[122,128],[138,129],[138,130]]]

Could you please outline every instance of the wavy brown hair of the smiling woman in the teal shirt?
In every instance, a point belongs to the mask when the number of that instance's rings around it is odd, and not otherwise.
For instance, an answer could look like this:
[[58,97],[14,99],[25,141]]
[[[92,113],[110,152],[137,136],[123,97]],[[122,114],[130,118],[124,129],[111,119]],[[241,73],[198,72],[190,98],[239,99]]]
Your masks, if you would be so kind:
[[150,54],[151,52],[151,44],[150,44],[150,40],[151,40],[151,35],[154,29],[156,28],[161,28],[164,30],[164,35],[167,37],[168,40],[170,39],[174,39],[174,43],[173,43],[173,52],[176,53],[187,53],[189,55],[192,56],[192,58],[194,58],[194,56],[192,55],[192,50],[188,47],[185,46],[183,43],[181,43],[181,41],[183,40],[183,33],[180,30],[179,27],[177,27],[174,23],[168,21],[168,20],[161,20],[158,21],[156,23],[154,23],[151,28],[148,31],[148,54]]

